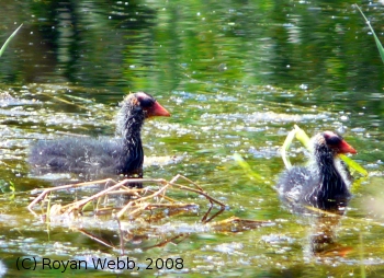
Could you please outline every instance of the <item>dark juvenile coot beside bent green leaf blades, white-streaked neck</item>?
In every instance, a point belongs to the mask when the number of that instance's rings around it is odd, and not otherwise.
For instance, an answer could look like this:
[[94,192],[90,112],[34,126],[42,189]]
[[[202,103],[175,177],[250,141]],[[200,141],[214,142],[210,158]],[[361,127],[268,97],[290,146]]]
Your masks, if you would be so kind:
[[350,173],[340,161],[340,153],[357,153],[339,135],[325,131],[312,139],[313,152],[308,166],[285,171],[278,182],[283,198],[293,204],[307,204],[321,209],[337,208],[350,197]]

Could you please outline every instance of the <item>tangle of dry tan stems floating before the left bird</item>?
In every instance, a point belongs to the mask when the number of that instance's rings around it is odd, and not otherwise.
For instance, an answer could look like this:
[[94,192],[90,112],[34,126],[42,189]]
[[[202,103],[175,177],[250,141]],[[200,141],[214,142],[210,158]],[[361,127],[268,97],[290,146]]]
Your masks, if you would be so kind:
[[[189,184],[193,185],[187,186],[177,184],[176,182],[178,179],[182,179],[184,182],[188,182]],[[159,185],[159,188],[154,190],[151,188],[145,187],[145,188],[132,188],[128,187],[129,184],[135,183],[155,183]],[[221,207],[219,212],[224,211],[225,204],[218,201],[214,197],[210,196],[207,193],[203,190],[203,188],[197,185],[196,183],[192,182],[191,179],[182,176],[177,175],[174,176],[170,182],[162,179],[162,178],[131,178],[131,179],[124,179],[121,182],[116,182],[112,178],[95,181],[95,182],[87,182],[87,183],[79,183],[79,184],[71,184],[71,185],[63,185],[57,187],[50,187],[44,189],[29,206],[27,209],[35,216],[37,213],[34,211],[34,206],[36,206],[38,202],[43,202],[47,197],[48,194],[53,192],[64,190],[64,189],[74,189],[79,187],[87,187],[90,185],[97,185],[97,184],[105,184],[109,187],[81,200],[72,201],[68,205],[61,206],[59,204],[54,204],[53,206],[48,206],[47,210],[45,212],[45,216],[47,218],[52,218],[55,216],[76,216],[75,212],[82,211],[87,205],[91,204],[92,201],[100,202],[101,198],[104,198],[111,194],[120,194],[120,195],[126,195],[127,196],[127,204],[123,208],[115,208],[115,207],[104,207],[99,208],[99,205],[93,210],[94,213],[98,212],[105,212],[105,211],[113,211],[113,215],[117,219],[122,219],[124,217],[128,217],[129,219],[137,219],[140,217],[145,211],[147,210],[154,210],[154,209],[173,209],[173,210],[191,210],[195,209],[199,206],[195,204],[185,204],[182,201],[178,201],[173,198],[170,198],[167,196],[168,190],[182,190],[182,192],[192,192],[197,195],[201,195],[205,197],[210,202],[210,209],[204,215],[202,222],[211,221],[214,217],[218,215],[215,213],[213,217],[208,218],[208,213],[211,212],[214,205],[217,205]],[[112,184],[112,185],[111,185]],[[52,202],[52,201],[49,201]],[[116,209],[118,209],[117,212]]]

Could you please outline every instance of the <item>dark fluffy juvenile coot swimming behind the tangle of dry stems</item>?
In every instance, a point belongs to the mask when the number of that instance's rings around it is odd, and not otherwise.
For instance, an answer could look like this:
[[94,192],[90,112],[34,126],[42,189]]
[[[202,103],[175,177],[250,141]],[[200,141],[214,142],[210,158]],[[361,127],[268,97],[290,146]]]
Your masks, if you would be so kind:
[[[117,117],[121,139],[64,138],[39,141],[31,149],[30,164],[41,172],[123,174],[143,177],[140,130],[146,118],[170,116],[151,95],[127,95]],[[45,170],[45,171],[44,171]]]

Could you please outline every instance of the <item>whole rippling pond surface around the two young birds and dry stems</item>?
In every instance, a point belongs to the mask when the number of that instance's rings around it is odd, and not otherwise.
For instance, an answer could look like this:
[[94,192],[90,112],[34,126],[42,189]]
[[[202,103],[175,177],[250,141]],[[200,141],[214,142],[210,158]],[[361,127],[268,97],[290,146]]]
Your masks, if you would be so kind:
[[[384,65],[353,3],[2,1],[1,42],[24,25],[0,63],[0,277],[384,275]],[[381,37],[383,5],[361,8]],[[31,190],[79,178],[32,174],[30,146],[64,135],[114,137],[117,103],[135,91],[172,114],[145,124],[145,177],[181,174],[225,210],[202,223],[207,200],[170,190],[196,206],[120,223],[111,211],[52,222],[31,213]],[[308,135],[342,134],[369,171],[366,178],[354,173],[343,216],[293,213],[273,189],[284,170],[279,150],[295,124]],[[297,141],[290,158],[305,161]],[[58,192],[53,201],[94,192]],[[233,217],[249,222],[215,225]],[[136,268],[91,267],[117,257]],[[18,270],[34,258],[35,270]],[[88,269],[48,269],[44,259],[84,260]]]

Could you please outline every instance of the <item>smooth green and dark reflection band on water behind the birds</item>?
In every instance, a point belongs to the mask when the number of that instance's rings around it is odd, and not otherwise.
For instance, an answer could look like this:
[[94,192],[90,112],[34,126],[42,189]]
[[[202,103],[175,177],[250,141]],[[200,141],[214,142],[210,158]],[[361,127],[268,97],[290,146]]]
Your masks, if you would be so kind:
[[[7,26],[19,21],[24,27],[12,46],[15,51],[0,65],[4,81],[195,91],[185,83],[187,74],[213,85],[305,84],[338,92],[383,88],[373,39],[345,1],[332,7],[305,1],[20,5],[25,15],[15,12],[16,5],[9,9]],[[370,12],[376,15],[380,9]]]

